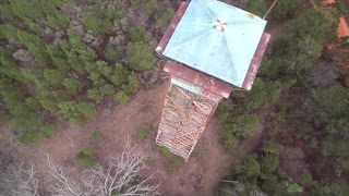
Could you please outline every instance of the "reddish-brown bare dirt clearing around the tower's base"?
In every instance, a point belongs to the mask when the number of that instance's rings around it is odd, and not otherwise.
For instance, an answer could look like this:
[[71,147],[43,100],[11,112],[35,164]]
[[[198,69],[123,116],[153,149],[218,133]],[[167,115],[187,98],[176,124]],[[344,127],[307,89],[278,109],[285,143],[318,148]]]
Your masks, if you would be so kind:
[[[115,106],[113,101],[106,100],[98,107],[96,119],[89,120],[81,127],[73,124],[60,127],[56,135],[39,144],[32,146],[17,144],[14,138],[11,138],[11,134],[7,136],[7,140],[11,139],[12,147],[17,151],[13,156],[22,161],[35,163],[38,170],[44,168],[45,155],[49,154],[61,166],[77,171],[80,163],[75,156],[81,149],[95,146],[99,161],[104,162],[106,158],[122,149],[127,138],[131,138],[133,145],[140,146],[151,156],[152,161],[148,163],[147,172],[156,172],[156,181],[161,182],[161,195],[215,195],[219,179],[230,173],[234,160],[258,145],[262,132],[256,132],[253,137],[243,142],[234,155],[228,155],[218,144],[218,131],[221,124],[213,118],[197,144],[201,151],[192,156],[188,163],[173,167],[174,157],[161,154],[155,145],[157,125],[168,85],[169,81],[166,81],[151,90],[141,90],[125,106]],[[140,139],[139,131],[149,127],[151,124],[154,128],[148,137]],[[97,130],[104,136],[100,140],[92,137],[93,132]],[[1,137],[4,135],[2,134]]]

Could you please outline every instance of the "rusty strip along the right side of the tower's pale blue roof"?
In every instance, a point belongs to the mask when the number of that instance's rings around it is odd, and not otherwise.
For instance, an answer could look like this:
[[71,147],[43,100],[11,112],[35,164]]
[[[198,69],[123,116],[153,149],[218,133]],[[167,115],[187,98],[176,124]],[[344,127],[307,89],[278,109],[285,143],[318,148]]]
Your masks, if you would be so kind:
[[241,88],[244,88],[246,90],[251,90],[253,82],[257,75],[257,71],[261,66],[263,56],[265,53],[266,47],[270,40],[270,34],[263,33],[258,47],[254,52],[253,59],[251,61],[251,64],[249,66],[246,76],[244,77],[244,81],[242,83]]

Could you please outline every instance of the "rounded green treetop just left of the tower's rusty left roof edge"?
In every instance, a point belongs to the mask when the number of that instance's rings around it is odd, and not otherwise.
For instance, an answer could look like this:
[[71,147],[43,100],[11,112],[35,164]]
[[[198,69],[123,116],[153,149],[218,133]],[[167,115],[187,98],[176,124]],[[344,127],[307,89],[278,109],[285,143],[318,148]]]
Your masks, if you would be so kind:
[[147,44],[130,42],[127,51],[128,66],[132,70],[149,70],[155,64],[154,52]]

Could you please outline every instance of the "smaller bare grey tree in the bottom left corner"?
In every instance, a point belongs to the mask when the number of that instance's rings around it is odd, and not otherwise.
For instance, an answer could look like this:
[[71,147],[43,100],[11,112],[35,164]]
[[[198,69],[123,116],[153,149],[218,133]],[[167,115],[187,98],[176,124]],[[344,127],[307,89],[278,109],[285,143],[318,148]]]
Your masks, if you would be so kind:
[[38,196],[38,179],[36,176],[34,164],[25,168],[23,163],[10,168],[2,179],[12,195]]

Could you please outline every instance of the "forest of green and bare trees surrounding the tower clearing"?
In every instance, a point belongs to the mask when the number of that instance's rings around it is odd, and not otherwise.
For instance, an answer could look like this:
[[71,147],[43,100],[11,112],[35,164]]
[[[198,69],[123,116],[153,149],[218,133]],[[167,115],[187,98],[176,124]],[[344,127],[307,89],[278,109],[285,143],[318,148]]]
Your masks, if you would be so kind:
[[[16,138],[7,143],[28,148],[48,143],[62,127],[83,127],[98,118],[98,107],[107,102],[127,108],[140,91],[157,89],[166,75],[164,59],[154,50],[180,2],[1,0],[0,126],[10,126]],[[274,1],[225,2],[263,17]],[[349,4],[346,0],[315,3],[317,9],[305,0],[278,0],[266,17],[272,41],[252,90],[233,90],[217,108],[217,140],[228,157],[257,130],[263,133],[255,149],[231,161],[226,174],[213,182],[214,195],[345,196],[349,192],[349,37],[336,34],[338,19],[349,20]],[[136,139],[151,142],[154,126],[137,131]],[[92,143],[105,139],[100,131],[91,137]],[[149,180],[153,175],[139,172],[143,163],[156,166],[156,161],[129,143],[124,149],[105,168],[98,164],[95,147],[76,154],[97,184],[64,179],[63,169],[48,156],[48,175],[57,181],[51,188],[45,189],[47,182],[40,184],[29,167],[7,175],[8,183],[21,186],[0,182],[0,192],[159,194],[161,185]],[[168,172],[190,164],[168,157],[167,149],[158,151],[171,162]],[[200,148],[196,152],[205,156]],[[0,150],[1,173],[13,164],[5,158],[9,154]],[[123,167],[128,164],[135,168]],[[115,176],[124,181],[111,181],[107,192],[101,184],[110,173],[104,172],[115,168],[121,171]],[[123,173],[128,169],[136,172]]]

